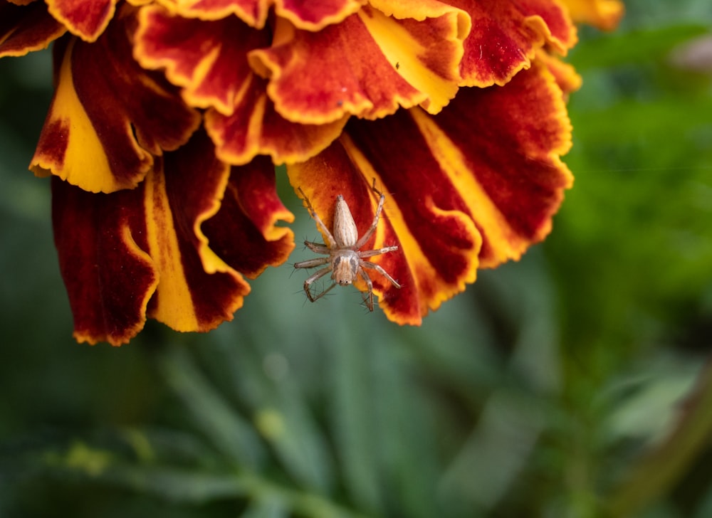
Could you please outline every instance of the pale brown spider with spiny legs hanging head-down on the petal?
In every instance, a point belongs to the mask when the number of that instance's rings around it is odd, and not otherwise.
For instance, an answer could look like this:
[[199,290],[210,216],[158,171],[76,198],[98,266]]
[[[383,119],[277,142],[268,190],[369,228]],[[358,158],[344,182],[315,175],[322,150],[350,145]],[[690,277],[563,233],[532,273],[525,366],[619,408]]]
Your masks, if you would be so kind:
[[[371,282],[371,278],[368,276],[364,268],[376,270],[378,273],[386,277],[392,285],[397,288],[401,287],[401,285],[399,285],[393,277],[388,275],[386,270],[375,263],[364,260],[364,258],[373,257],[374,255],[394,252],[395,250],[398,250],[397,246],[387,246],[384,248],[377,248],[376,250],[360,250],[360,248],[376,230],[378,226],[378,219],[383,208],[383,202],[386,199],[383,193],[376,189],[375,179],[373,181],[372,189],[375,194],[379,196],[376,215],[374,216],[368,231],[366,231],[366,233],[359,239],[356,222],[354,221],[351,210],[343,196],[340,194],[336,196],[336,208],[334,210],[334,233],[331,233],[329,232],[329,229],[326,228],[324,222],[321,221],[321,218],[317,215],[309,199],[304,194],[304,191],[302,191],[301,187],[298,188],[307,204],[310,216],[316,222],[324,236],[326,236],[326,244],[313,243],[312,241],[305,241],[304,244],[307,245],[307,248],[313,252],[323,253],[328,255],[328,257],[309,259],[294,264],[294,268],[314,268],[315,266],[327,265],[326,268],[322,268],[304,281],[304,291],[311,302],[315,302],[323,297],[337,284],[340,286],[350,285],[356,280],[357,276],[360,275],[361,278],[365,280],[368,287],[367,295],[365,295],[363,301],[365,302],[366,307],[368,307],[370,311],[373,311],[373,282]],[[334,281],[332,285],[330,285],[319,295],[312,295],[310,286],[313,282],[319,280],[329,272],[331,272],[331,278]]]

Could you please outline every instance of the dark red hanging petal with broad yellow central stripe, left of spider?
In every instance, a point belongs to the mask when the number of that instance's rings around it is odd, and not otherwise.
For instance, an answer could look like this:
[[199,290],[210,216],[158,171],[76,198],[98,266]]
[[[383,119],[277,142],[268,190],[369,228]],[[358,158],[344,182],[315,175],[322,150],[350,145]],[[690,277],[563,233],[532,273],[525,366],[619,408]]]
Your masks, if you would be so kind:
[[157,160],[144,182],[146,240],[159,272],[148,314],[177,331],[209,331],[231,320],[250,291],[201,231],[201,223],[219,211],[228,178],[229,166],[214,157],[199,132]]

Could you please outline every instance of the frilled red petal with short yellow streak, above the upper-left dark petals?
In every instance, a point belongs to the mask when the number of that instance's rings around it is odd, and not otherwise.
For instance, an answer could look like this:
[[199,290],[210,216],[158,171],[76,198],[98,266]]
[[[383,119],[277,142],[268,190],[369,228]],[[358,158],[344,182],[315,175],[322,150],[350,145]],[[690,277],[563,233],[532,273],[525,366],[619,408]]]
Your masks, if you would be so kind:
[[201,21],[147,6],[140,11],[134,55],[145,68],[165,68],[189,105],[231,115],[253,74],[247,53],[267,46],[268,38],[235,16]]

